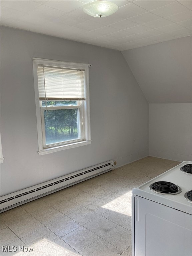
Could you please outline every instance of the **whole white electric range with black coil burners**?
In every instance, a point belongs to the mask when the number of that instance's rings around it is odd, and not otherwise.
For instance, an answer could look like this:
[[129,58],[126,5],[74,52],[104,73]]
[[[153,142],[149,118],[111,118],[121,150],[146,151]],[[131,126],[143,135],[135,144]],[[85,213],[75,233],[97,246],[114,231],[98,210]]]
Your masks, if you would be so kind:
[[132,255],[192,256],[192,162],[132,193]]

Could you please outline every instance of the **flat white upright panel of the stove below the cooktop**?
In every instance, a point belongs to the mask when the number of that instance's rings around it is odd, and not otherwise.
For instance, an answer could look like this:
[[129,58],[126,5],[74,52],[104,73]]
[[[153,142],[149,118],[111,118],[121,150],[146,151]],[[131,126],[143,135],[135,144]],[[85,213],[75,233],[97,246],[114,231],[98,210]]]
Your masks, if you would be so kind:
[[132,200],[133,255],[192,255],[192,215],[136,195]]

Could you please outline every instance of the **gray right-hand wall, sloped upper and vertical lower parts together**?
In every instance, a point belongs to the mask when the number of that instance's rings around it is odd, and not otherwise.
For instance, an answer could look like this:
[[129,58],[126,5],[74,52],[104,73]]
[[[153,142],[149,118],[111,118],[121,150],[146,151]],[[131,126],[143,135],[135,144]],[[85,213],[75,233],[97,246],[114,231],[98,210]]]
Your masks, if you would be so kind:
[[149,104],[149,155],[192,160],[191,36],[122,52]]

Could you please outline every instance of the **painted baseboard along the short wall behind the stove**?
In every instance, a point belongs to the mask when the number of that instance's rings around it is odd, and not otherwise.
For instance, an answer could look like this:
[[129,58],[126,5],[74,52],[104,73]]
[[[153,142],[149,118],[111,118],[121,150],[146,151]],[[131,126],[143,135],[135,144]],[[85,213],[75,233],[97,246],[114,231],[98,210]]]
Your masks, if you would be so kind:
[[149,155],[174,161],[192,161],[192,156],[149,149]]

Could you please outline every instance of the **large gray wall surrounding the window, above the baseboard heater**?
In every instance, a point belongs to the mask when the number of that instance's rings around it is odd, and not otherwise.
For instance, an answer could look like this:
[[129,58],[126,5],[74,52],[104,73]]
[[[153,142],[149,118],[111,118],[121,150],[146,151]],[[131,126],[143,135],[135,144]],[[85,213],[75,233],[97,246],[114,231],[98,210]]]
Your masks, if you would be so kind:
[[[89,63],[90,145],[39,156],[32,57]],[[1,28],[1,196],[113,159],[148,155],[148,103],[122,54]]]

